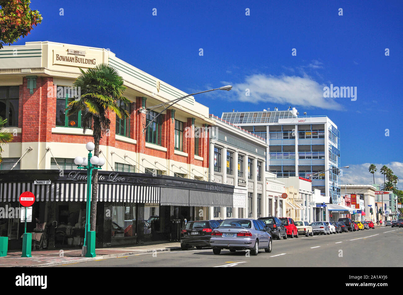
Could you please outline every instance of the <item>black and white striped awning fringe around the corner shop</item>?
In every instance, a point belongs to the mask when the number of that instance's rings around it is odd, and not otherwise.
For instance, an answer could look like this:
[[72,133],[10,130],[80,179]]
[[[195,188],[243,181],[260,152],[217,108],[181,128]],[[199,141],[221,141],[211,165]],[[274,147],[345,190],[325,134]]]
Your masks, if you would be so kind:
[[[0,202],[18,202],[23,192],[32,192],[36,201],[87,201],[87,184],[33,184],[31,182],[0,183]],[[160,203],[174,206],[233,207],[233,194],[187,188],[137,186],[131,184],[99,184],[98,201]]]

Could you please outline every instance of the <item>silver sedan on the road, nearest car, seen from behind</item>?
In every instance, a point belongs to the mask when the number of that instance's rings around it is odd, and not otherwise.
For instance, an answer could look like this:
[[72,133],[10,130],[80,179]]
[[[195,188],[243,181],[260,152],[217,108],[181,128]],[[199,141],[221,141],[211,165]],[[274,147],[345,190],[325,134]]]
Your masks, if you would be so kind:
[[225,219],[212,231],[210,245],[214,254],[229,249],[230,252],[250,250],[256,256],[259,249],[272,252],[272,237],[268,229],[255,219]]

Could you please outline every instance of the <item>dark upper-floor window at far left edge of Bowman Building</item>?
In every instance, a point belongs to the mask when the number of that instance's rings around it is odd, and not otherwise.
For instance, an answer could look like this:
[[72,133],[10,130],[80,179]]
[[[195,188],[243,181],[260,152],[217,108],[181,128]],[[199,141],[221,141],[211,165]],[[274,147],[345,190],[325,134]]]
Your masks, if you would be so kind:
[[18,100],[19,86],[0,87],[0,117],[7,119],[4,127],[18,126]]

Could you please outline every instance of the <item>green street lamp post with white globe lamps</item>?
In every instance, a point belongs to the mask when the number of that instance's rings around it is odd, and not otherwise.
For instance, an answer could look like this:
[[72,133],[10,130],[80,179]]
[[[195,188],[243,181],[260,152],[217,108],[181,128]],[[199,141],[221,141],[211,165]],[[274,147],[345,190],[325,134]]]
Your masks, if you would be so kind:
[[88,150],[88,158],[76,157],[74,163],[78,166],[78,169],[87,170],[87,208],[85,210],[85,230],[84,230],[84,245],[82,256],[95,257],[95,231],[90,231],[90,207],[91,207],[91,180],[92,170],[101,169],[101,166],[105,164],[105,159],[93,156],[91,151],[95,148],[93,142],[88,142],[85,145]]

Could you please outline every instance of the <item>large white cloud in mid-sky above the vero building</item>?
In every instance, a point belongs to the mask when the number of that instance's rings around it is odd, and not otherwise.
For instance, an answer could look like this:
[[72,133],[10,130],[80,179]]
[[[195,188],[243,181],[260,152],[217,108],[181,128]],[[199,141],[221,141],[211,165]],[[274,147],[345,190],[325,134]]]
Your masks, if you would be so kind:
[[[239,101],[343,109],[336,100],[323,97],[323,87],[326,85],[320,85],[306,74],[302,77],[253,74],[247,76],[244,83],[233,86],[233,94]],[[246,89],[250,89],[250,96],[245,95]]]

